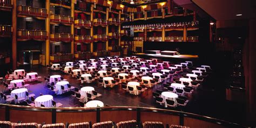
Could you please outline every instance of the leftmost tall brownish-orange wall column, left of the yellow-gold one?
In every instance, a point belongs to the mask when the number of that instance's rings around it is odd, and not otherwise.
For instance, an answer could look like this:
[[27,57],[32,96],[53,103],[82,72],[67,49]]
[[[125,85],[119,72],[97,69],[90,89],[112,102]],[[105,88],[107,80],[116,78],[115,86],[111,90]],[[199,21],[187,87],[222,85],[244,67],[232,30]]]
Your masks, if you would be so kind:
[[17,1],[13,1],[12,9],[12,69],[17,68]]

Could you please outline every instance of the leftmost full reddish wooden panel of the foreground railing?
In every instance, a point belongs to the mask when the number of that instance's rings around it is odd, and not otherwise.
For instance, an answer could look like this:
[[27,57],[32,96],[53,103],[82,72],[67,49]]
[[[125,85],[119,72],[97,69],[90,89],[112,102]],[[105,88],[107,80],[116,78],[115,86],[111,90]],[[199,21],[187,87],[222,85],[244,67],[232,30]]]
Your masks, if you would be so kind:
[[51,124],[51,112],[10,110],[10,121],[22,123],[43,123]]

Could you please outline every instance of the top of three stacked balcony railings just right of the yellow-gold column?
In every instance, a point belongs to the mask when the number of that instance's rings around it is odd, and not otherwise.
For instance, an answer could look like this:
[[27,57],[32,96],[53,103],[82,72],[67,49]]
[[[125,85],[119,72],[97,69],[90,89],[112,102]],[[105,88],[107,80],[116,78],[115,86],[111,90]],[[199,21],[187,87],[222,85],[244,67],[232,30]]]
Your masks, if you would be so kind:
[[63,15],[51,15],[51,22],[60,22],[60,23],[74,23],[73,17],[63,16]]

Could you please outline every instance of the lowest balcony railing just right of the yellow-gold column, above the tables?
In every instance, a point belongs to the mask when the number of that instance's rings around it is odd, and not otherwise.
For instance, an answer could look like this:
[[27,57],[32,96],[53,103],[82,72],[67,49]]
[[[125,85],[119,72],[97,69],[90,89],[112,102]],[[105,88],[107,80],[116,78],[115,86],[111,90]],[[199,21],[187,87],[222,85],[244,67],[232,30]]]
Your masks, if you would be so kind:
[[50,61],[52,63],[65,62],[65,61],[70,61],[70,60],[73,60],[73,55],[71,53],[60,53],[57,55],[50,56]]

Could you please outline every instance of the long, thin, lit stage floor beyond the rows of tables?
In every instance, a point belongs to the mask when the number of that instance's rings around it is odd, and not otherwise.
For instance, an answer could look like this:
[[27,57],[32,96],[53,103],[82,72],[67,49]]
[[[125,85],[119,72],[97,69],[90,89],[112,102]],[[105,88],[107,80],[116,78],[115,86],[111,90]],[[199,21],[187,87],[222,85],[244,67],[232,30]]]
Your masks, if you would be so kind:
[[180,59],[197,59],[198,55],[161,55],[161,54],[148,54],[148,53],[136,53],[138,56],[152,56],[159,58],[180,58]]

